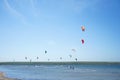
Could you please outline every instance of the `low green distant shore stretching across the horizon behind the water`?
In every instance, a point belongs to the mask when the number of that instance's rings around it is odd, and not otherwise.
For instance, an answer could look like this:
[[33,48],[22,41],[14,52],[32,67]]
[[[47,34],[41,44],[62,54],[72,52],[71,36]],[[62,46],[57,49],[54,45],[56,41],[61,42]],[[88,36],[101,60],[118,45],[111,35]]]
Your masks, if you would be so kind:
[[88,62],[88,61],[73,61],[73,62],[0,62],[0,65],[34,65],[34,64],[45,64],[45,65],[69,65],[69,64],[120,64],[120,62]]

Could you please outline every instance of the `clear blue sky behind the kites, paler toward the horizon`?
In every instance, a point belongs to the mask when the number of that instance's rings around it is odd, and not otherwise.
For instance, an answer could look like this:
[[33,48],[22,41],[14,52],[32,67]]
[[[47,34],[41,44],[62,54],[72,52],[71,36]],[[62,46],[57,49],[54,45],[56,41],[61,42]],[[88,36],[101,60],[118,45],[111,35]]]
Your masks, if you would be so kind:
[[120,62],[120,0],[0,0],[0,62],[75,58]]

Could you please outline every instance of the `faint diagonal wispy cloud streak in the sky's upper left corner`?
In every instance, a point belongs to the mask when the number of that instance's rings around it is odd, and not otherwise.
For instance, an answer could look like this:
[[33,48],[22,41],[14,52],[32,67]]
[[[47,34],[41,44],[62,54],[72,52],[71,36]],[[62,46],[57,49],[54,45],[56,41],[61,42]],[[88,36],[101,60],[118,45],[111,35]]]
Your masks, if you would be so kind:
[[7,0],[4,0],[4,3],[8,12],[10,12],[13,16],[17,17],[23,24],[27,23],[25,16],[18,12],[16,9],[12,8],[12,6]]

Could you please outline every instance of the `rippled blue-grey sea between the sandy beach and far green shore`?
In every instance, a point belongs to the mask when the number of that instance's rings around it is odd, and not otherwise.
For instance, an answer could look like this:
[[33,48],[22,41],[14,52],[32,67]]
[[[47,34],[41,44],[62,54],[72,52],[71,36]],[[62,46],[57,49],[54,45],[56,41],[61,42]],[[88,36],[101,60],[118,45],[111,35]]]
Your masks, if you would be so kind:
[[120,80],[120,63],[0,64],[0,72],[19,80]]

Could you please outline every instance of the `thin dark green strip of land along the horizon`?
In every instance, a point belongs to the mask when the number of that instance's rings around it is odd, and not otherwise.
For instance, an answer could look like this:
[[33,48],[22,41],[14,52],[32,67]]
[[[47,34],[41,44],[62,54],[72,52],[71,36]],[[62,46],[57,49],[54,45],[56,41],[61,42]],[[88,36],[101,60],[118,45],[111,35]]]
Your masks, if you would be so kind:
[[0,65],[120,65],[120,62],[0,62]]

